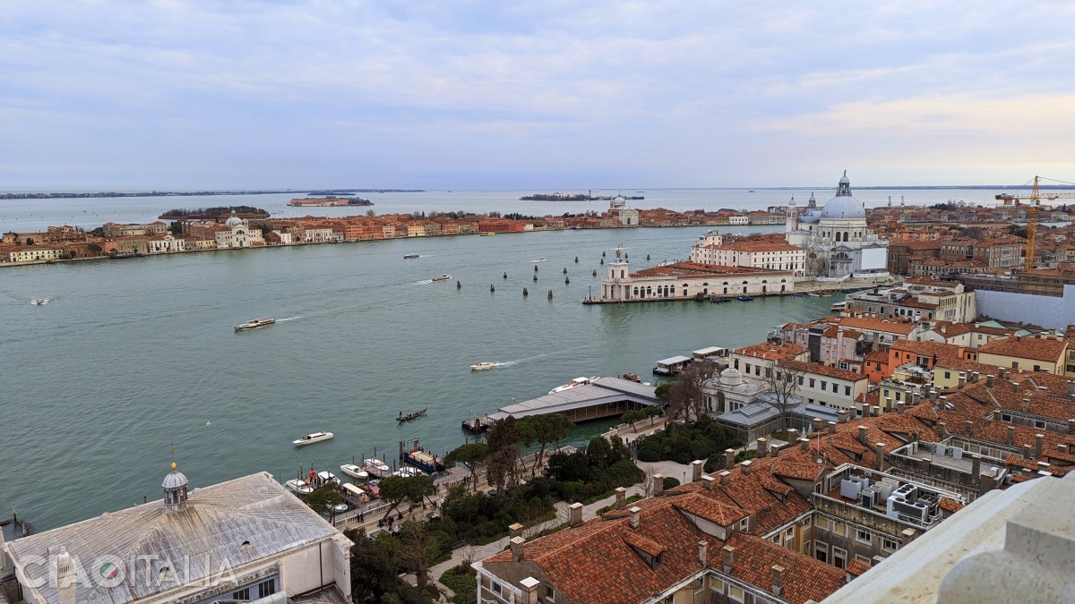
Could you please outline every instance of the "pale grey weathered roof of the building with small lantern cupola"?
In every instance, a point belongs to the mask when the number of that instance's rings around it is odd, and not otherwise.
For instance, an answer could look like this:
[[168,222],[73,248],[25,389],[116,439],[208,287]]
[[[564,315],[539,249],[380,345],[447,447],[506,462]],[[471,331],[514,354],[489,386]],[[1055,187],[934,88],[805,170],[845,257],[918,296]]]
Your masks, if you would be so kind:
[[[80,583],[76,602],[123,604],[178,585],[206,583],[223,569],[243,566],[335,535],[335,529],[271,475],[259,473],[194,489],[181,512],[169,513],[158,500],[16,540],[8,547],[14,560],[28,561],[33,556],[47,559],[62,546],[76,560],[76,570],[81,567],[88,575],[89,587]],[[143,561],[138,563],[140,577],[126,572],[118,586],[100,585],[100,559],[114,557],[128,569],[140,556],[167,560],[176,580],[157,586],[164,562],[148,562],[153,580],[144,580],[147,563]],[[25,565],[24,572],[29,581],[42,579],[39,589],[48,602],[59,602],[55,585],[48,581],[47,564]]]

